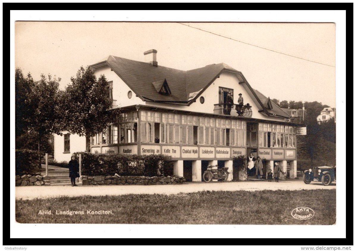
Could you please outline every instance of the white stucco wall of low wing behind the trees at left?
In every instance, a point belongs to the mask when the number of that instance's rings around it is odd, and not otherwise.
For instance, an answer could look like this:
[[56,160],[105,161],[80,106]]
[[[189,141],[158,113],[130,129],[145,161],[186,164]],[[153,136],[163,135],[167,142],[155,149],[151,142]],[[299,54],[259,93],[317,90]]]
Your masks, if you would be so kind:
[[[63,135],[68,131],[63,131]],[[54,159],[57,162],[67,161],[75,152],[85,151],[85,137],[79,137],[77,134],[70,135],[70,152],[64,153],[64,136],[54,135]]]

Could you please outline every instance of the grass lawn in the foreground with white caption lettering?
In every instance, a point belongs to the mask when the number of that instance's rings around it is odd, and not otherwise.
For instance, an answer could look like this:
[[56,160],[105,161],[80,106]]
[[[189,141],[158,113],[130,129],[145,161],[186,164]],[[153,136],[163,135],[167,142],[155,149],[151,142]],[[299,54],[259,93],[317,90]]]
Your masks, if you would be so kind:
[[[16,200],[19,223],[121,223],[121,224],[286,224],[331,225],[336,218],[336,190],[204,191],[178,195],[62,196]],[[315,215],[294,219],[297,207]],[[51,210],[52,214],[38,214]],[[83,211],[63,215],[56,211]],[[112,214],[87,214],[110,211]]]

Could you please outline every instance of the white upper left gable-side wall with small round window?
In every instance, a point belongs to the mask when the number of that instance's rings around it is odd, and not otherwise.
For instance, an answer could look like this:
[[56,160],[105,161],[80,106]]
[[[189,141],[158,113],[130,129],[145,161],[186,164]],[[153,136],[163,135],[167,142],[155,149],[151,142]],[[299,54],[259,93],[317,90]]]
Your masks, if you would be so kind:
[[[122,81],[122,79],[117,76],[114,71],[111,71],[109,66],[102,66],[96,69],[95,76],[103,74],[106,77],[106,80],[112,81],[112,98],[116,100],[116,104],[119,107],[126,107],[130,105],[145,104],[139,97],[136,97],[135,92],[133,92],[127,84]],[[127,97],[127,93],[132,92],[132,98]]]

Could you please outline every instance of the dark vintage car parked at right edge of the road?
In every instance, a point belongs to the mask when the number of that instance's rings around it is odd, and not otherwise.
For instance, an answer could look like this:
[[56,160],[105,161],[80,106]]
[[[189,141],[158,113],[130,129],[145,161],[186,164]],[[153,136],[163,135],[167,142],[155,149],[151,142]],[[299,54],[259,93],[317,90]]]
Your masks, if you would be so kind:
[[336,167],[314,167],[305,170],[303,174],[303,181],[305,184],[310,184],[312,181],[319,181],[324,186],[328,186],[331,182],[336,181]]

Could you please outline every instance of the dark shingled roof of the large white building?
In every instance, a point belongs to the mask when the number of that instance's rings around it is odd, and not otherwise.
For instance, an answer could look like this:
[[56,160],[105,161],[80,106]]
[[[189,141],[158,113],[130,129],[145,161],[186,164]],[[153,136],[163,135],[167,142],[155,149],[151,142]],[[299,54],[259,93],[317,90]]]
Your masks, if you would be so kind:
[[[142,100],[190,105],[195,102],[201,93],[215,81],[223,72],[236,73],[243,79],[240,84],[257,105],[257,109],[267,116],[278,116],[289,118],[283,110],[273,103],[273,108],[266,108],[266,98],[262,93],[251,88],[241,72],[224,64],[212,64],[194,70],[182,71],[164,67],[161,65],[152,66],[150,63],[140,62],[116,56],[108,56],[92,68],[108,65]],[[166,80],[170,93],[160,92],[162,84]]]

